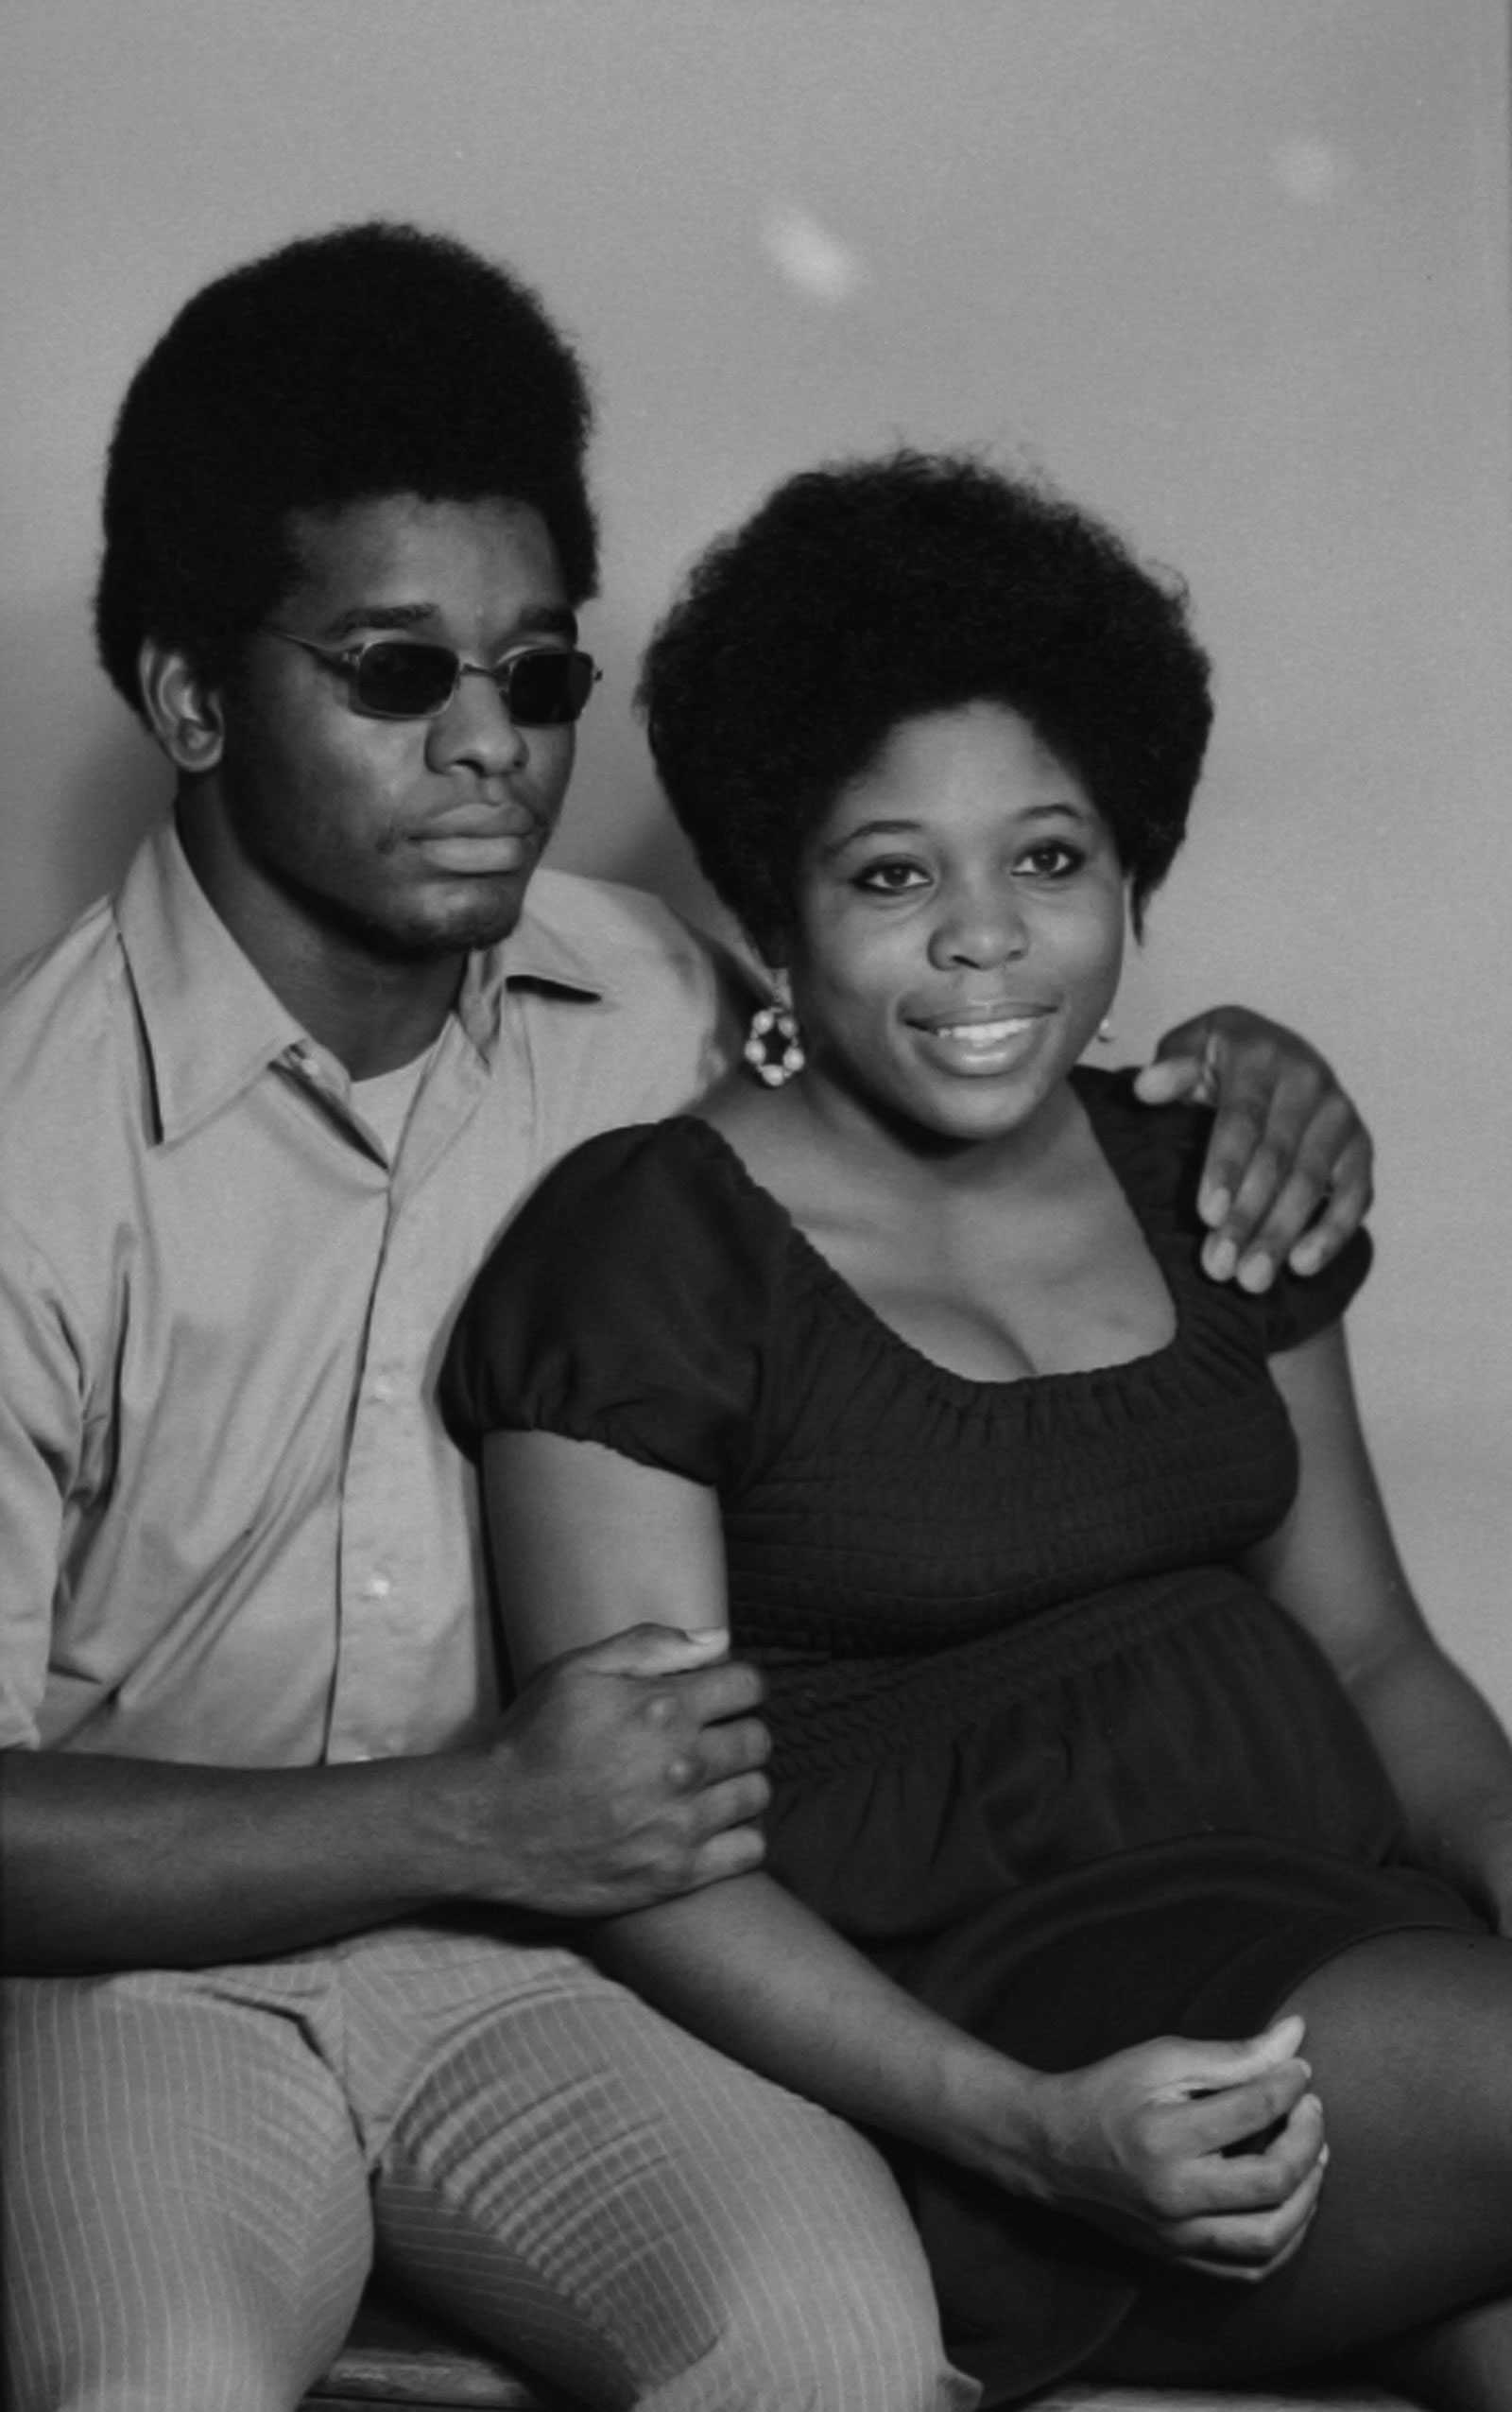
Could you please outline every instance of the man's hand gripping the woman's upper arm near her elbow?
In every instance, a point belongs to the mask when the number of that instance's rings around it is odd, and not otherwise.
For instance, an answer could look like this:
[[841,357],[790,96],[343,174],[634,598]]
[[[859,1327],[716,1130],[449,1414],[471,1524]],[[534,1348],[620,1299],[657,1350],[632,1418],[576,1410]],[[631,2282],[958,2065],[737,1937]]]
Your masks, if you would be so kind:
[[762,1681],[723,1647],[723,1633],[634,1626],[533,1676],[470,1763],[470,1891],[615,1918],[757,1867]]

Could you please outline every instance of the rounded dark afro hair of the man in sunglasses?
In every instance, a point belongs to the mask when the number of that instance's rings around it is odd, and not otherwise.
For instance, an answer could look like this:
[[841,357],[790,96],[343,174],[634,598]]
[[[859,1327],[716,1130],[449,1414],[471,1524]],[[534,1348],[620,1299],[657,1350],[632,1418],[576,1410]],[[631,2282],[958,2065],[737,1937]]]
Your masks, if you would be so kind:
[[219,683],[299,576],[289,514],[374,494],[533,504],[572,603],[598,584],[572,345],[504,268],[374,219],[207,285],[130,381],[104,490],[101,661],[145,637]]

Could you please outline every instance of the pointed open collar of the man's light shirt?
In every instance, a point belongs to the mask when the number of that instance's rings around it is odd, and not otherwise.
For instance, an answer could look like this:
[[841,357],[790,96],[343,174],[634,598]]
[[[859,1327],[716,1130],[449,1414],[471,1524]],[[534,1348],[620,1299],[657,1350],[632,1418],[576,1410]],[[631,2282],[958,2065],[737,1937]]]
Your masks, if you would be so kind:
[[[166,1141],[207,1122],[270,1064],[311,1049],[304,1025],[215,912],[171,820],[137,849],[116,897],[116,926],[147,1032]],[[468,958],[458,989],[456,1018],[485,1064],[499,1042],[504,994],[514,987],[588,999],[608,994],[581,948],[528,900],[502,946]]]

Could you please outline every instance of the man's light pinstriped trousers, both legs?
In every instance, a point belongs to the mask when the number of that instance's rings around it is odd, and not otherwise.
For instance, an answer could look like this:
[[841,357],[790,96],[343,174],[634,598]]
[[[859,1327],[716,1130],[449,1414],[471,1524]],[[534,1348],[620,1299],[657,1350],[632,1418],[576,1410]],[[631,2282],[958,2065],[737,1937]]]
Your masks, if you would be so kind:
[[289,2412],[369,2265],[646,2412],[969,2412],[858,2135],[444,1925],[5,1985],[10,2412]]

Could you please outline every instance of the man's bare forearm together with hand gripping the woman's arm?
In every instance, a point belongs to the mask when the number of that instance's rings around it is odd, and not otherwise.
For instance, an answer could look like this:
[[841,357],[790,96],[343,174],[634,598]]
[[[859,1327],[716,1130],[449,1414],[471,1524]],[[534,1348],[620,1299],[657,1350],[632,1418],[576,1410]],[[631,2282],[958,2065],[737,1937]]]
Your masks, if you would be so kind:
[[637,1628],[434,1758],[205,1768],[0,1754],[2,1966],[200,1968],[436,1903],[610,1918],[762,1855],[760,1679]]

